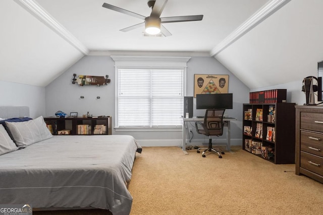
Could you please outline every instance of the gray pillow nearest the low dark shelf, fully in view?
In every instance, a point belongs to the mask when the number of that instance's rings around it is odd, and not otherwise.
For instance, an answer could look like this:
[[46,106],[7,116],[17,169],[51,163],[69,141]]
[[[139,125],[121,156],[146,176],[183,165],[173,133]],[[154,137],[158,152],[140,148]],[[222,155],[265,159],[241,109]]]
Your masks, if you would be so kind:
[[42,116],[25,122],[6,122],[6,125],[19,148],[25,148],[53,136]]

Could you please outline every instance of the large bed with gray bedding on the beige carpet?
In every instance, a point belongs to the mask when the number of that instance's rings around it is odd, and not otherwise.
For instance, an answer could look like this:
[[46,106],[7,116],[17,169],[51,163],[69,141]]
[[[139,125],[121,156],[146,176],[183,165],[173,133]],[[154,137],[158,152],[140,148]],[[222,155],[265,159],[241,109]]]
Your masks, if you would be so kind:
[[[1,112],[0,117],[5,118]],[[41,123],[42,117],[38,118],[19,125]],[[15,133],[11,135],[16,138]],[[19,148],[0,155],[2,204],[130,213],[132,196],[127,183],[135,155],[142,150],[132,136],[57,135]]]

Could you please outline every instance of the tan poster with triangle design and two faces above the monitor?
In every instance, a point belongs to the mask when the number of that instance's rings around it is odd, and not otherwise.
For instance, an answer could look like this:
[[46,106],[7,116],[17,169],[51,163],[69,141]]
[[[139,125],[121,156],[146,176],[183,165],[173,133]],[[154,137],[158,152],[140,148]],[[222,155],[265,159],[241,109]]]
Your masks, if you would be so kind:
[[194,98],[196,94],[228,93],[229,75],[194,74]]

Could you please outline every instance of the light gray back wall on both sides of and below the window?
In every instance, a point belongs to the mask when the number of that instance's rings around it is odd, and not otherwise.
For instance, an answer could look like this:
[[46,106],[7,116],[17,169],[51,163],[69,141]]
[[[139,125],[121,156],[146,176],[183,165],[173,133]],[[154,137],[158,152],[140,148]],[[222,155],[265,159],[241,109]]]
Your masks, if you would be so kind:
[[[46,116],[53,116],[61,110],[67,114],[78,112],[79,116],[89,111],[93,115],[109,115],[115,126],[115,62],[110,56],[85,56],[71,66],[63,75],[46,87]],[[111,83],[107,86],[78,86],[72,84],[73,74],[109,75]],[[187,63],[187,96],[194,95],[194,74],[229,75],[229,93],[233,93],[234,108],[226,114],[237,117],[231,123],[231,145],[241,145],[242,141],[242,103],[249,99],[249,89],[240,82],[228,69],[213,57],[192,57]],[[81,99],[80,96],[84,96]],[[100,99],[96,99],[100,96]],[[203,115],[203,110],[195,109],[194,115]],[[194,128],[195,129],[195,128]],[[194,130],[193,129],[193,130]],[[142,146],[180,146],[181,129],[167,131],[115,131],[113,134],[133,135]],[[194,133],[193,142],[207,142],[207,137]],[[225,142],[225,137],[219,142]]]

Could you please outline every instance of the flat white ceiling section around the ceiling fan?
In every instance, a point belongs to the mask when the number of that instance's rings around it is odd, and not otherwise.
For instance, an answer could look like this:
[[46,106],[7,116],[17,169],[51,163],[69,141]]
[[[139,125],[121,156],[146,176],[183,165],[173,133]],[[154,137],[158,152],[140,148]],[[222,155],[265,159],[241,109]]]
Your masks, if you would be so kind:
[[147,0],[37,2],[90,50],[210,51],[267,0],[169,0],[161,17],[204,15],[202,21],[163,24],[170,37],[144,37],[144,28],[119,31],[143,20],[101,7],[105,2],[147,17]]

